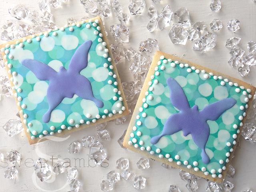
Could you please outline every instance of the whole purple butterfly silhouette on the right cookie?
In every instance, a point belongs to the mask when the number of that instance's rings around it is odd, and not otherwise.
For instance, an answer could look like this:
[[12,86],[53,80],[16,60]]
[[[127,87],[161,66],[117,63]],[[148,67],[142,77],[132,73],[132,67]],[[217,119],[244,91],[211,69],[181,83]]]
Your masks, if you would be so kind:
[[176,80],[168,78],[166,83],[170,90],[172,105],[178,108],[180,112],[168,117],[162,133],[151,138],[151,143],[156,144],[162,136],[172,135],[182,130],[184,136],[191,134],[195,144],[202,150],[203,163],[208,164],[210,158],[205,152],[205,146],[210,135],[210,128],[207,120],[217,120],[222,113],[236,104],[236,100],[233,98],[222,99],[198,111],[197,105],[190,108],[186,95]]

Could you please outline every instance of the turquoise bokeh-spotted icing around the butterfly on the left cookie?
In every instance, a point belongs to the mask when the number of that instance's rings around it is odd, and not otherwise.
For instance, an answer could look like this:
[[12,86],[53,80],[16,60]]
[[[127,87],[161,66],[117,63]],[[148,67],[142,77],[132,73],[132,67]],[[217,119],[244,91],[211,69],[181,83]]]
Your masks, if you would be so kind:
[[[36,38],[32,38],[32,42],[23,42],[24,47],[20,47],[18,44],[14,49],[6,48],[10,53],[7,55],[8,64],[12,64],[10,68],[11,72],[17,72],[17,76],[13,76],[13,80],[17,81],[15,90],[18,97],[22,97],[20,105],[26,104],[26,108],[22,109],[24,114],[28,115],[26,118],[26,124],[32,123],[29,127],[31,136],[32,131],[36,131],[39,135],[43,135],[43,131],[48,133],[57,132],[61,130],[61,125],[74,126],[80,124],[80,120],[85,122],[92,122],[96,120],[96,115],[110,116],[113,110],[118,113],[122,111],[122,107],[116,107],[116,102],[113,97],[120,98],[120,92],[114,92],[114,88],[118,88],[114,85],[116,79],[113,75],[114,71],[109,67],[111,60],[109,57],[104,58],[103,53],[98,51],[98,47],[102,46],[103,52],[106,46],[102,42],[98,41],[100,37],[100,28],[92,25],[93,22],[81,24],[80,27],[72,26],[73,31],[69,28],[65,28],[64,31],[57,30],[57,36],[53,35],[53,32],[49,32],[49,36],[40,35],[41,40],[37,41]],[[86,24],[90,24],[90,28],[86,28]],[[99,30],[100,29],[100,30]],[[94,34],[97,31],[97,34]],[[92,46],[88,54],[88,66],[84,68],[80,74],[88,78],[92,85],[92,91],[96,98],[102,100],[104,103],[103,108],[98,108],[94,102],[90,100],[84,100],[76,95],[73,98],[64,98],[62,102],[52,111],[50,122],[42,122],[42,116],[48,109],[48,102],[46,99],[46,90],[48,88],[49,81],[41,81],[28,70],[25,66],[22,66],[21,61],[24,59],[34,59],[45,64],[48,64],[51,68],[57,72],[60,66],[68,69],[70,59],[72,58],[76,49],[86,40],[92,40]],[[106,52],[104,52],[106,54]],[[13,59],[8,58],[8,55],[14,56]],[[107,54],[108,55],[108,54]],[[104,67],[104,64],[108,64],[108,67]],[[113,83],[109,84],[111,80]],[[21,88],[22,92],[18,92],[17,89]],[[122,106],[121,101],[118,101]],[[104,110],[108,110],[104,112]],[[91,114],[90,118],[86,117],[86,114]],[[74,124],[70,124],[69,120],[73,119]],[[50,130],[51,126],[55,126],[55,130]]]

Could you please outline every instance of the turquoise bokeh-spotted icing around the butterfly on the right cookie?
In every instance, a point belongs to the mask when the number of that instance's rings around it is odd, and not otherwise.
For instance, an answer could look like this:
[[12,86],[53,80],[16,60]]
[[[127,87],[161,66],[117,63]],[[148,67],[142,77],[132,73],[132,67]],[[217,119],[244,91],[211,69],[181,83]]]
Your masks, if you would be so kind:
[[[230,152],[233,142],[236,140],[233,138],[233,134],[238,133],[238,128],[233,128],[233,125],[237,124],[239,127],[241,120],[238,117],[243,116],[245,112],[246,102],[244,99],[247,96],[242,94],[244,90],[240,87],[230,86],[227,82],[222,86],[220,82],[223,80],[214,80],[211,75],[206,79],[203,77],[204,73],[202,72],[197,74],[195,70],[192,70],[189,73],[187,69],[190,67],[181,68],[179,64],[176,64],[176,67],[172,67],[170,61],[166,64],[163,63],[162,59],[160,61],[161,63],[156,69],[156,72],[160,72],[159,76],[154,75],[154,78],[151,80],[152,85],[150,87],[154,89],[150,91],[151,89],[149,88],[148,95],[146,94],[145,96],[148,106],[142,104],[141,108],[143,110],[140,110],[141,112],[138,113],[134,124],[137,129],[132,131],[134,137],[131,134],[130,142],[133,138],[136,138],[136,142],[133,141],[132,144],[138,145],[138,148],[144,147],[142,150],[150,146],[151,149],[148,152],[154,153],[152,154],[154,156],[162,154],[165,158],[166,154],[170,154],[170,158],[174,162],[180,161],[183,164],[186,160],[192,168],[198,167],[201,170],[201,168],[205,167],[207,172],[214,169],[218,176],[220,174],[218,170],[223,168],[226,161],[228,161],[226,153]],[[173,61],[172,63],[174,64]],[[165,66],[165,69],[160,70],[161,66]],[[166,84],[166,79],[169,77],[174,78],[180,84],[190,106],[198,105],[199,110],[223,98],[234,98],[236,100],[236,104],[229,110],[226,110],[216,121],[207,121],[210,127],[210,136],[206,144],[206,153],[210,157],[209,164],[202,162],[201,150],[196,146],[191,135],[189,134],[185,137],[182,131],[171,136],[163,136],[155,145],[150,142],[153,136],[157,136],[162,132],[166,119],[171,114],[179,112],[170,102],[169,90]],[[159,82],[155,84],[154,80]],[[237,93],[235,91],[236,88],[239,88],[241,91]],[[247,92],[247,94],[249,93]],[[149,96],[153,96],[153,99],[150,100]],[[244,106],[244,109],[240,110],[240,106]],[[144,112],[146,117],[142,116]],[[139,121],[142,122],[140,126],[137,124]],[[141,136],[136,134],[138,131],[142,133]],[[143,141],[144,144],[140,144],[140,141]],[[230,142],[231,146],[227,146],[227,142]],[[157,153],[157,149],[161,150],[160,153]],[[180,156],[179,160],[174,158],[176,155]],[[224,160],[224,164],[220,164],[220,160]],[[198,162],[198,166],[193,166],[194,161]]]

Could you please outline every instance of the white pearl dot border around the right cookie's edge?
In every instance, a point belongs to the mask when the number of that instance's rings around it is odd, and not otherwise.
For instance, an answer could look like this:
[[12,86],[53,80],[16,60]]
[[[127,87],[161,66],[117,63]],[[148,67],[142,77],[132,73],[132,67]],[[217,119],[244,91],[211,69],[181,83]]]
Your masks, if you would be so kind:
[[[161,60],[162,60],[162,61],[161,61]],[[176,65],[179,65],[180,68],[186,67],[186,68],[187,68],[186,71],[187,71],[188,73],[191,73],[192,71],[196,72],[197,74],[202,73],[202,77],[201,77],[201,78],[204,78],[205,80],[207,80],[207,79],[209,79],[209,78],[211,78],[211,77],[213,77],[214,80],[218,80],[218,79],[219,79],[219,80],[222,80],[222,81],[220,82],[220,85],[221,85],[221,86],[229,85],[229,86],[236,86],[236,87],[238,87],[238,84],[237,84],[237,83],[233,83],[233,82],[229,81],[227,78],[224,78],[224,79],[223,79],[222,76],[214,76],[214,74],[213,74],[212,72],[209,72],[209,73],[207,74],[205,70],[199,70],[199,69],[196,69],[194,66],[191,66],[191,67],[190,67],[188,64],[182,64],[182,63],[180,63],[180,62],[178,62],[178,61],[172,61],[171,59],[167,59],[167,60],[166,60],[164,56],[160,56],[160,60],[157,62],[157,65],[158,65],[158,66],[156,66],[156,67],[154,68],[154,70],[155,70],[154,75],[151,76],[151,80],[148,82],[148,85],[149,85],[148,91],[145,92],[145,98],[142,99],[143,105],[142,105],[141,108],[139,108],[139,112],[142,112],[142,114],[141,114],[141,117],[142,117],[142,118],[145,118],[145,117],[147,116],[146,112],[144,112],[144,108],[147,108],[147,107],[148,107],[147,100],[153,100],[153,99],[154,99],[153,96],[149,94],[149,92],[152,92],[152,91],[154,90],[154,88],[153,88],[153,86],[152,86],[153,84],[158,84],[158,80],[155,79],[155,77],[156,77],[156,76],[159,76],[159,75],[160,75],[160,72],[161,72],[162,70],[165,70],[165,69],[166,69],[166,66],[164,66],[164,64],[166,65],[166,64],[168,64],[168,62],[170,63],[170,66],[173,67],[173,68],[175,68]],[[249,98],[252,98],[252,96],[250,95],[251,90],[250,90],[250,89],[244,90],[244,87],[243,87],[243,86],[240,86],[239,88],[236,88],[236,89],[235,89],[235,92],[236,92],[236,93],[242,92],[242,94],[243,94],[244,96],[247,96],[247,95],[248,95],[248,97],[246,97],[246,98],[244,99],[244,102],[246,102],[246,103],[249,101]],[[250,96],[249,96],[249,95],[250,95]],[[248,108],[248,104],[246,104],[246,105],[247,105],[247,108]],[[143,107],[144,107],[144,108],[143,108]],[[240,110],[244,110],[245,108],[246,108],[246,107],[244,107],[244,106],[240,106]],[[242,121],[243,118],[244,118],[244,116],[246,116],[246,113],[244,113],[243,116],[239,116],[239,120]],[[142,125],[142,122],[139,120],[139,119],[140,119],[140,116],[139,116],[139,115],[136,117],[136,119],[137,119],[138,121],[136,122],[136,126],[134,126],[132,129],[133,129],[133,131],[135,132],[135,134],[136,134],[138,137],[140,137],[140,136],[142,136],[142,132],[138,130],[137,126],[140,127],[140,126]],[[242,123],[242,122],[241,122],[241,123]],[[240,123],[240,126],[242,126],[241,123]],[[238,125],[234,124],[234,125],[233,125],[233,128],[234,128],[234,129],[238,129]],[[239,129],[238,129],[238,130],[239,130]],[[138,133],[138,134],[137,134],[137,133]],[[131,142],[131,141],[128,141],[128,145],[134,144],[134,146],[136,145],[136,148],[139,148],[139,147],[140,147],[141,150],[145,150],[145,148],[146,148],[146,150],[147,150],[147,151],[150,151],[150,154],[152,154],[152,155],[154,155],[154,154],[159,154],[159,153],[161,152],[161,150],[160,150],[159,148],[157,148],[155,151],[152,151],[150,146],[146,146],[146,147],[145,147],[145,146],[142,146],[142,145],[144,145],[144,141],[143,141],[143,140],[139,140],[139,145],[138,145],[138,144],[137,144],[138,140],[137,140],[136,138],[134,138],[135,134],[132,132],[132,135],[131,135],[132,142]],[[232,135],[232,138],[236,139],[236,138],[237,138],[237,134],[233,134],[233,135]],[[135,142],[135,141],[136,141],[136,142]],[[232,144],[235,145],[235,144],[236,144],[236,141],[234,140],[234,142],[233,142]],[[233,152],[233,151],[234,151],[234,149],[232,148],[232,144],[231,144],[230,142],[227,142],[227,146],[230,147],[230,149],[229,149],[230,152]],[[226,157],[227,157],[226,163],[229,162],[228,157],[230,156],[230,152],[226,152]],[[159,157],[159,158],[164,158],[164,155],[159,154],[158,157]],[[173,161],[173,158],[170,158],[170,154],[166,154],[166,155],[165,155],[165,158],[167,158],[168,161],[170,161],[170,162]],[[175,155],[175,156],[174,156],[174,159],[175,159],[175,160],[179,160],[179,159],[180,159],[180,156],[179,156],[179,155]],[[181,164],[182,164],[180,161],[177,161],[176,163],[177,163],[178,165],[181,165]],[[220,164],[224,164],[224,160],[220,160],[219,163],[220,163]],[[192,166],[194,166],[194,171],[196,171],[196,172],[199,171],[199,168],[197,167],[197,166],[198,166],[198,162],[196,162],[196,161],[192,162],[192,165],[190,165],[190,164],[188,163],[188,160],[185,160],[185,161],[183,162],[183,164],[186,165],[188,169],[191,169]],[[210,170],[210,173],[209,173],[208,171],[206,171],[206,168],[205,168],[205,167],[202,167],[202,168],[201,168],[201,171],[204,172],[205,175],[211,174],[213,178],[216,178],[216,177],[217,177],[216,170],[214,170],[214,169],[213,169],[213,170]],[[218,173],[221,173],[221,172],[222,172],[222,169],[219,169],[219,170],[218,170]],[[218,174],[218,178],[222,178],[222,174]]]

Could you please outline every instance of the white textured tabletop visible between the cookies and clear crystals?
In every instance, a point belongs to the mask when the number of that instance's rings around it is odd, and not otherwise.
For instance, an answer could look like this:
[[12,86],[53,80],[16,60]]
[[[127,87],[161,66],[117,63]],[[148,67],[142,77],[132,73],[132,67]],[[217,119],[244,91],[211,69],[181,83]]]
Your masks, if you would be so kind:
[[[38,0],[1,0],[1,21],[12,19],[8,14],[8,7],[14,4],[22,3],[28,6],[28,8],[35,9],[38,8],[37,2]],[[120,0],[120,2],[123,4],[124,12],[129,13],[128,0]],[[146,2],[147,7],[152,4],[151,0],[146,0]],[[132,46],[133,48],[138,49],[138,44],[140,41],[145,40],[148,37],[156,38],[159,41],[159,47],[162,51],[170,54],[177,54],[182,58],[242,79],[256,86],[256,69],[252,69],[252,72],[250,72],[246,78],[242,78],[238,72],[236,72],[236,70],[228,66],[227,61],[229,60],[230,55],[228,54],[229,50],[225,47],[226,39],[233,36],[232,32],[226,29],[226,23],[234,18],[241,21],[241,29],[235,34],[236,36],[242,38],[240,46],[246,50],[247,42],[249,40],[256,40],[256,4],[254,4],[252,0],[223,0],[222,9],[217,13],[210,10],[210,0],[163,0],[163,4],[157,5],[158,10],[160,11],[167,3],[170,4],[173,10],[178,9],[181,6],[188,8],[193,22],[205,21],[207,24],[209,24],[214,18],[220,19],[223,22],[224,28],[219,32],[216,32],[218,35],[218,42],[214,50],[206,54],[202,54],[192,50],[191,42],[188,42],[186,46],[173,45],[168,37],[170,28],[150,34],[146,29],[146,25],[149,20],[146,16],[146,11],[144,12],[143,16],[131,16],[130,23],[128,24],[128,27],[130,28],[130,43],[126,44],[127,48]],[[74,17],[79,19],[82,16],[85,16],[84,8],[80,5],[79,0],[70,0],[68,5],[58,8],[57,10],[53,10],[52,14],[54,15],[56,24],[59,26],[66,24],[67,18]],[[118,20],[111,16],[105,19],[105,22],[108,30],[109,26],[111,24],[118,23]],[[113,38],[110,38],[110,42],[113,42]],[[128,72],[128,68],[129,63],[125,62],[124,60],[118,64],[118,70],[121,74],[122,81],[131,80],[132,78]],[[0,74],[4,74],[4,71],[0,71]],[[15,118],[16,106],[14,99],[4,98],[0,102],[0,114],[0,126],[3,125],[8,119]],[[60,188],[62,189],[58,191],[69,191],[69,187],[65,187],[64,185],[64,174],[59,176],[56,180],[53,179],[53,181],[50,181],[49,183],[42,183],[37,179],[36,182],[32,182],[32,180],[34,180],[34,169],[31,167],[32,160],[30,158],[33,160],[36,160],[39,156],[47,158],[46,155],[54,157],[58,156],[60,158],[71,158],[73,159],[71,161],[73,165],[74,158],[84,158],[85,166],[83,168],[78,168],[79,179],[84,183],[81,191],[84,192],[100,191],[101,180],[106,179],[106,174],[115,169],[116,160],[120,157],[129,158],[130,168],[135,172],[135,174],[142,175],[147,178],[147,186],[144,191],[167,192],[170,184],[179,186],[183,192],[187,191],[185,187],[186,182],[180,180],[178,174],[179,170],[166,170],[160,166],[159,162],[156,161],[150,161],[151,167],[148,170],[142,171],[136,167],[136,162],[141,156],[134,152],[120,148],[116,142],[127,126],[128,122],[122,126],[115,126],[113,122],[108,123],[107,128],[110,131],[112,139],[110,142],[103,142],[104,146],[107,148],[109,158],[109,166],[106,168],[92,168],[88,166],[88,149],[83,148],[80,154],[71,155],[67,152],[67,147],[70,142],[80,140],[82,136],[96,134],[94,129],[88,128],[86,130],[75,132],[71,134],[70,138],[63,142],[47,141],[33,146],[28,145],[24,133],[15,136],[14,138],[9,138],[6,136],[5,132],[0,129],[0,150],[6,153],[12,149],[16,149],[21,153],[23,159],[20,168],[18,168],[19,175],[15,184],[13,180],[4,179],[3,172],[6,169],[6,163],[0,163],[0,192],[57,191],[57,189]],[[240,147],[235,154],[236,158],[232,162],[236,168],[236,174],[233,179],[228,178],[228,180],[235,185],[233,192],[241,192],[242,190],[246,190],[248,188],[252,188],[255,191],[256,148],[249,142],[246,142],[243,139],[241,140]],[[25,159],[27,159],[27,166],[24,164]],[[93,165],[92,162],[89,163],[90,165]],[[108,164],[104,164],[103,166],[107,166]],[[198,184],[198,192],[204,192],[207,182],[201,179],[199,180]],[[115,184],[114,191],[136,192],[136,190],[132,187],[132,182],[126,182],[124,180]]]

